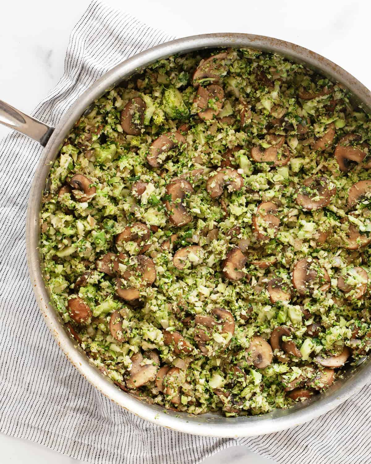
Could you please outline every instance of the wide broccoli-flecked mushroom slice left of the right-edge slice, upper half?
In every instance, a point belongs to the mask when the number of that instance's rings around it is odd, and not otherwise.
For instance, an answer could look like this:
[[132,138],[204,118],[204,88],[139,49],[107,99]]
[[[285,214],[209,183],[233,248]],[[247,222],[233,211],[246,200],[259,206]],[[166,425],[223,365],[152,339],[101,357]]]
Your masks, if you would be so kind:
[[305,211],[314,211],[330,204],[336,193],[336,187],[326,177],[308,177],[303,187],[296,190],[295,202]]

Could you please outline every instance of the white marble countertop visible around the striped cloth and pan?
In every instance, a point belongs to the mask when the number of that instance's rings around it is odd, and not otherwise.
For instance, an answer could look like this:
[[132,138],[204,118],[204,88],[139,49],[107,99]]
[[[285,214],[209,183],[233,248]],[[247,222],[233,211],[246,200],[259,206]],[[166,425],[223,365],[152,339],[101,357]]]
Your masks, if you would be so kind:
[[[32,112],[63,73],[72,27],[90,0],[19,0],[1,6],[0,99]],[[371,5],[363,0],[298,2],[296,0],[106,0],[136,17],[178,37],[207,32],[249,32],[294,42],[333,60],[367,87]],[[197,16],[196,16],[197,14]],[[201,18],[201,20],[200,20]],[[0,127],[0,136],[8,129]],[[0,434],[1,462],[44,464],[77,463],[43,446]],[[219,453],[207,464],[268,464],[244,447]],[[151,464],[151,463],[148,463]],[[179,463],[180,464],[180,463]],[[186,463],[181,463],[186,464]]]

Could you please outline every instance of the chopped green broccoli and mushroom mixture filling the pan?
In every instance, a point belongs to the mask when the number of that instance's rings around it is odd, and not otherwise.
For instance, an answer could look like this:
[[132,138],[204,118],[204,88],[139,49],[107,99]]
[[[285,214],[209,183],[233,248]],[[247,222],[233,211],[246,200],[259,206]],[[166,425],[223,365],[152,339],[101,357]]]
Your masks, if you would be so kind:
[[51,169],[45,278],[118,387],[261,414],[371,346],[370,116],[249,49],[162,59],[96,101]]

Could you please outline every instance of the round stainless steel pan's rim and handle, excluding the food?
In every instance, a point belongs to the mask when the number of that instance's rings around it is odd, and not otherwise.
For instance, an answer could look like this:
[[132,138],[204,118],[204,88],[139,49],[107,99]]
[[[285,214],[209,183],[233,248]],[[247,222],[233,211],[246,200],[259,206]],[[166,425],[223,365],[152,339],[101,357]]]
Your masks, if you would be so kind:
[[27,262],[36,299],[45,322],[70,362],[90,381],[94,387],[118,405],[134,412],[154,424],[163,425],[180,432],[215,437],[244,437],[278,432],[301,424],[330,411],[357,393],[371,381],[371,357],[359,362],[357,367],[345,371],[344,378],[337,380],[325,393],[314,396],[304,404],[287,410],[275,410],[262,416],[226,418],[221,415],[205,414],[191,416],[186,413],[166,411],[160,406],[148,404],[123,392],[91,365],[84,352],[76,348],[75,342],[65,331],[45,287],[42,258],[39,256],[40,206],[51,163],[74,123],[96,98],[132,76],[138,69],[146,67],[159,58],[174,53],[214,47],[249,47],[266,52],[277,52],[295,62],[304,64],[320,74],[338,81],[349,89],[358,105],[371,112],[371,93],[355,77],[326,58],[306,48],[282,40],[251,34],[218,33],[186,37],[155,46],[115,66],[86,90],[66,112],[56,128],[51,128],[15,110],[0,101],[0,123],[18,130],[43,145],[44,151],[32,182],[27,210],[26,248]]

